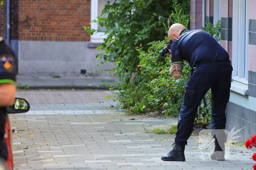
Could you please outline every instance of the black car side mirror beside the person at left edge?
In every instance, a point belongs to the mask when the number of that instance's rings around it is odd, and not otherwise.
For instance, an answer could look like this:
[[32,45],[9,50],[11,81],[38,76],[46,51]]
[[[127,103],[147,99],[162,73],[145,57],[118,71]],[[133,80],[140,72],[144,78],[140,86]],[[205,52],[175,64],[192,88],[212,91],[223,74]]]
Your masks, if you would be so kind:
[[15,98],[10,107],[6,107],[7,113],[25,113],[30,109],[29,102],[23,98]]

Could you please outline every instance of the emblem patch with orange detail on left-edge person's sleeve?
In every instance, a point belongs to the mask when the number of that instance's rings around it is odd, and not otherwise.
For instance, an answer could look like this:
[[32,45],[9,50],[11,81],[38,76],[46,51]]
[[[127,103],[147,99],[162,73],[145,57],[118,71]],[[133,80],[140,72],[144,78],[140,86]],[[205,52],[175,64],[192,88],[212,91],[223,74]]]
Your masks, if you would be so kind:
[[4,54],[0,56],[0,66],[5,72],[11,72],[14,68],[15,59],[14,56]]

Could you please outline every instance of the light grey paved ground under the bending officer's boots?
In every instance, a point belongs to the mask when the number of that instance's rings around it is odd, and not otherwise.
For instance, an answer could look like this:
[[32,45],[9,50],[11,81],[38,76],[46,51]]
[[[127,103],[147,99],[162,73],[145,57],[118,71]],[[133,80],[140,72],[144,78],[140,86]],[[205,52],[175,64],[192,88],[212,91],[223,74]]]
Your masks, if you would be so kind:
[[172,149],[174,135],[150,130],[168,129],[177,119],[127,116],[112,105],[116,103],[31,105],[25,114],[10,115],[15,129],[14,169],[253,169],[252,152],[244,146],[228,146],[226,161],[202,160],[202,153],[211,153],[214,145],[200,150],[196,135],[188,140],[185,162],[164,162],[161,155]]

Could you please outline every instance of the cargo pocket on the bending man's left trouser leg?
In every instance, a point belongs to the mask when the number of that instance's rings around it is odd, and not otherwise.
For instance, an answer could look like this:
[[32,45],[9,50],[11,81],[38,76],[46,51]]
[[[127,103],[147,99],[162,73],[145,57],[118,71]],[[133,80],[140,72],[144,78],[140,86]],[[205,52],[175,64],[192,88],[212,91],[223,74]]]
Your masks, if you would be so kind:
[[195,103],[196,83],[187,82],[184,90],[183,104],[192,105]]

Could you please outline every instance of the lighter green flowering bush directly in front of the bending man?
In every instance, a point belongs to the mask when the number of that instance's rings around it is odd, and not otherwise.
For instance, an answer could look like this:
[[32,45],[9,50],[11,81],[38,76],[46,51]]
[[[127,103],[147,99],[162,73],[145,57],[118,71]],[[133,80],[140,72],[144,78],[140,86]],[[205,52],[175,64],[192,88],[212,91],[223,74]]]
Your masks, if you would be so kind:
[[[154,41],[150,43],[150,48],[140,52],[140,74],[141,81],[139,86],[146,86],[147,94],[136,103],[131,110],[157,111],[165,113],[166,116],[177,116],[183,101],[184,86],[189,78],[189,66],[185,64],[181,78],[176,80],[170,76],[169,68],[171,60],[169,56],[162,57],[159,51],[165,46],[165,41]],[[140,76],[139,76],[140,78]],[[123,93],[123,92],[122,92]],[[144,107],[144,108],[143,108]]]

